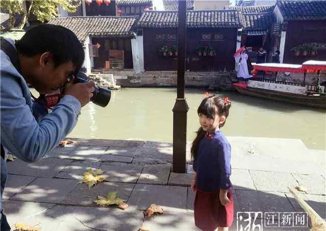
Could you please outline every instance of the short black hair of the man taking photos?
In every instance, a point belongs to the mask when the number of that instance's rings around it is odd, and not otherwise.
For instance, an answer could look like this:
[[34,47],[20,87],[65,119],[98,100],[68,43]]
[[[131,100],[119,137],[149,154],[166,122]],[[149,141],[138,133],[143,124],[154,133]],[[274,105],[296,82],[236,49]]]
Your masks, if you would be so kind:
[[16,42],[16,48],[24,56],[50,52],[55,68],[71,61],[76,66],[77,73],[84,62],[85,53],[76,35],[66,27],[52,24],[42,24],[28,30]]

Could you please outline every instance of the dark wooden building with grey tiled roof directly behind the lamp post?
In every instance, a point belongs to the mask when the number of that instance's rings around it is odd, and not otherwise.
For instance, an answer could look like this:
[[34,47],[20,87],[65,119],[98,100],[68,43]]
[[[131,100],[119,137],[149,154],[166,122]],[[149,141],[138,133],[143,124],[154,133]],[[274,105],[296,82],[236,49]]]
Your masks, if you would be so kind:
[[[138,27],[144,40],[146,71],[177,70],[178,12],[144,12]],[[234,70],[237,29],[242,26],[236,10],[187,11],[186,70]]]

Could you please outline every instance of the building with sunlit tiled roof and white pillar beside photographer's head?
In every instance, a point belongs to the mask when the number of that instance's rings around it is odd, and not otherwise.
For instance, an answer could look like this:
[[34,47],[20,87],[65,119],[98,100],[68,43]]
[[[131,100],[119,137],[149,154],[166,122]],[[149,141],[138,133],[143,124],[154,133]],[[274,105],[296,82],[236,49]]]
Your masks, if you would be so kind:
[[[133,25],[138,17],[53,18],[50,24],[72,30],[84,46],[84,67],[88,73],[103,69],[132,69]],[[135,46],[135,45],[133,45]]]

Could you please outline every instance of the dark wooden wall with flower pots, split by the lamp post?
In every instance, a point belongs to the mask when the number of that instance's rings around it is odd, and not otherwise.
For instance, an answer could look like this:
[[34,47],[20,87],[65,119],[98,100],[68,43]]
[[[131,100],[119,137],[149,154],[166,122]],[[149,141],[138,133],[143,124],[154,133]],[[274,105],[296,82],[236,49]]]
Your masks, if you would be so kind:
[[[186,70],[190,71],[231,71],[234,70],[233,54],[236,49],[236,28],[188,28]],[[177,70],[176,56],[162,56],[159,49],[162,46],[173,46],[177,40],[158,40],[158,34],[176,35],[177,28],[144,28],[144,62],[147,71]],[[203,40],[203,34],[211,34],[211,40]],[[222,40],[214,40],[214,35],[223,36]],[[216,56],[198,56],[198,45],[212,45]]]

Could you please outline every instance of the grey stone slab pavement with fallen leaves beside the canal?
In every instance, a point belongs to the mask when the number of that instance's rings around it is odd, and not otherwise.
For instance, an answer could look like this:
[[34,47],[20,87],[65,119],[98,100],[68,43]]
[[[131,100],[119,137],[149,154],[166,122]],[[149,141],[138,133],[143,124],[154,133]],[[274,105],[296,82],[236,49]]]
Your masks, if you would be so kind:
[[[172,144],[151,141],[72,139],[36,163],[8,162],[4,210],[9,223],[29,223],[42,231],[199,230],[194,225],[195,193],[189,188],[192,164],[187,144],[187,174],[172,169]],[[252,222],[267,222],[264,212],[302,212],[287,186],[304,186],[303,199],[326,218],[325,157],[302,141],[228,137],[232,145],[234,222],[237,212],[261,212]],[[105,182],[77,184],[88,168],[105,171]],[[118,190],[129,207],[98,207],[98,195]],[[157,204],[164,214],[144,219]],[[248,219],[248,214],[242,214]],[[281,221],[277,220],[277,223]],[[244,221],[242,221],[244,222]],[[244,226],[247,223],[238,223]],[[256,228],[255,230],[258,230]],[[262,230],[262,229],[261,229]],[[263,227],[263,230],[309,230],[309,227]]]

